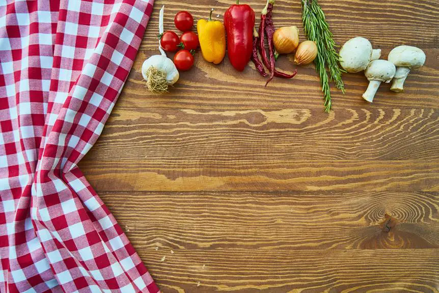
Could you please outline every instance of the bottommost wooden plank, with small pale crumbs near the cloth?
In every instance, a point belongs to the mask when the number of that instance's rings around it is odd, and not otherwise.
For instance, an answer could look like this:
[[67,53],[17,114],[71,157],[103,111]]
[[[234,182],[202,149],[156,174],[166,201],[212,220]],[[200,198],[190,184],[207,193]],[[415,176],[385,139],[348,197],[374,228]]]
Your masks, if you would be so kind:
[[437,249],[173,252],[140,252],[167,293],[439,292]]

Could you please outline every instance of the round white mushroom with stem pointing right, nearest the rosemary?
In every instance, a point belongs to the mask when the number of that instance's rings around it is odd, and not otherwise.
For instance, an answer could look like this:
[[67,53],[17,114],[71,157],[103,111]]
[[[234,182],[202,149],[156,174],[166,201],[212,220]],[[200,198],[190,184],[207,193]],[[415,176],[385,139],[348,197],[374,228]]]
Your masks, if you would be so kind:
[[379,59],[381,49],[372,49],[368,39],[355,37],[340,49],[340,65],[347,72],[355,73],[366,69],[369,62]]

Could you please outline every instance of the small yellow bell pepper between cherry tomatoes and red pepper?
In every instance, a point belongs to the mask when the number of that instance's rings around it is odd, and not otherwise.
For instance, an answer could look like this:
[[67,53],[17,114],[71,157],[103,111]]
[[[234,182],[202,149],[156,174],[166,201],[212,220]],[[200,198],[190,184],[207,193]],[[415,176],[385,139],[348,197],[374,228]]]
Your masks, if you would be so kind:
[[197,32],[203,58],[219,64],[226,55],[226,29],[221,21],[212,20],[212,11],[208,20],[198,20]]

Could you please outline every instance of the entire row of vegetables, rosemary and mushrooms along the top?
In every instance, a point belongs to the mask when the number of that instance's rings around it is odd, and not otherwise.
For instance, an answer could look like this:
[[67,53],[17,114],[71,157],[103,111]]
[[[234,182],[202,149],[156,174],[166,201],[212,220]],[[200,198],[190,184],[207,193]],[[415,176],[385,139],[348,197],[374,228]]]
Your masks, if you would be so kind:
[[[410,70],[423,66],[425,62],[421,49],[406,45],[394,48],[388,60],[381,60],[381,50],[373,49],[369,40],[363,37],[348,40],[337,52],[333,34],[317,0],[300,0],[302,23],[308,40],[299,43],[299,30],[295,25],[275,29],[272,20],[274,4],[275,0],[266,1],[258,29],[255,12],[249,5],[240,4],[239,0],[226,10],[224,24],[212,19],[212,8],[207,20],[197,21],[198,35],[191,31],[193,16],[187,11],[180,11],[174,17],[175,27],[183,32],[180,37],[173,31],[163,32],[163,6],[159,14],[161,54],[151,56],[142,65],[147,89],[154,93],[167,92],[168,87],[177,82],[178,70],[186,71],[194,65],[194,55],[199,46],[207,62],[221,63],[226,55],[226,34],[231,65],[237,71],[243,71],[252,60],[257,71],[267,77],[265,86],[275,76],[292,78],[297,73],[296,69],[291,74],[276,69],[275,63],[280,54],[294,54],[296,65],[314,61],[320,77],[325,112],[329,112],[332,106],[330,82],[334,82],[343,93],[345,91],[342,73],[364,70],[369,86],[363,98],[372,102],[380,84],[390,83],[392,79],[391,90],[402,92]],[[176,52],[173,61],[167,58],[165,51]]]

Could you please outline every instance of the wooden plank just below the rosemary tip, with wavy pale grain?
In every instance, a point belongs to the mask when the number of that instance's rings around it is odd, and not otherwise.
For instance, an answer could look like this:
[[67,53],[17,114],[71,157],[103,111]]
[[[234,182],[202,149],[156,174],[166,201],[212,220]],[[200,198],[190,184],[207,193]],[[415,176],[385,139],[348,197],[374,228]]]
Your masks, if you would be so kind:
[[199,168],[213,159],[438,159],[438,124],[432,109],[115,109],[89,158],[199,159]]

